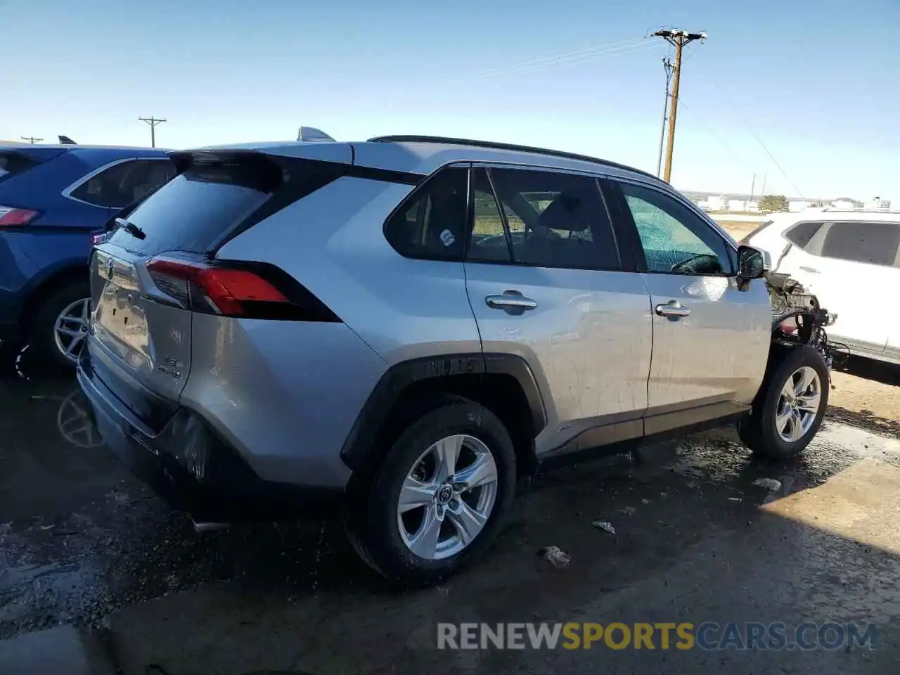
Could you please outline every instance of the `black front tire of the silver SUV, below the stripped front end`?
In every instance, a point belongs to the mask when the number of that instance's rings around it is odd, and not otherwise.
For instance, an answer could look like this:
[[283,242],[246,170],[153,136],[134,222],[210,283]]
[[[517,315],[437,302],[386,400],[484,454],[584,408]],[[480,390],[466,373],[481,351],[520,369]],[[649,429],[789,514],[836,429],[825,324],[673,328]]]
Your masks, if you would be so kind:
[[[792,408],[783,392],[788,379],[796,393],[800,391],[801,378],[815,374],[810,388],[796,397],[797,408]],[[817,383],[818,403],[813,410],[809,392]],[[738,435],[754,455],[785,460],[799,455],[822,426],[828,409],[830,380],[828,366],[819,352],[812,347],[786,347],[773,349],[770,367],[762,381],[760,392],[753,401],[751,414],[738,422]],[[788,419],[790,418],[790,419]],[[797,425],[797,426],[795,426]]]

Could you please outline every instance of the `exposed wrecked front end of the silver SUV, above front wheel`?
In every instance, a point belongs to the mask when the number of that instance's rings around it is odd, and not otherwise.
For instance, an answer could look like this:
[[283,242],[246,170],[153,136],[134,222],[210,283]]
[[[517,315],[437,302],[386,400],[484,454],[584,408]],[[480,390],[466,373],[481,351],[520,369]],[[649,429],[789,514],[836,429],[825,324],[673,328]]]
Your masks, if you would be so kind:
[[772,342],[781,345],[808,345],[822,354],[831,370],[833,347],[825,328],[832,326],[837,314],[825,310],[818,298],[789,275],[770,273],[766,287],[772,306]]

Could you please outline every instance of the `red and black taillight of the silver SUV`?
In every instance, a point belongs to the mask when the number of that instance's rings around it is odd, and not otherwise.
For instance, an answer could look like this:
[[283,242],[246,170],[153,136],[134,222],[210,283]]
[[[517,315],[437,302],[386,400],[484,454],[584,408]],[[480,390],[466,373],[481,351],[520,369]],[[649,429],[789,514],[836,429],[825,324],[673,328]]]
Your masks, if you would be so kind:
[[242,319],[339,321],[293,277],[266,263],[160,256],[147,269],[160,291],[193,311]]

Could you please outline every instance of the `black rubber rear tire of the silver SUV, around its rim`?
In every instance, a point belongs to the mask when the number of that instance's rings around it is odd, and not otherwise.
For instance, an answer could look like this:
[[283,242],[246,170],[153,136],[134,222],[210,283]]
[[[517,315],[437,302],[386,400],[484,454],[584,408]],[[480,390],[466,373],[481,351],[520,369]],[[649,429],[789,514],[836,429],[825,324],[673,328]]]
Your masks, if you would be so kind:
[[[464,470],[469,468],[466,459],[470,455],[480,458],[480,466],[489,467],[483,476],[488,475],[492,462],[496,476],[492,502],[491,483],[465,492],[460,487],[463,483],[455,482],[450,490],[452,497],[447,496],[443,487],[431,491],[433,485],[446,485],[438,480],[438,455],[433,448],[442,439],[459,437],[464,437],[464,440],[458,455],[459,463],[455,467],[457,480],[463,478]],[[453,445],[455,441],[446,442]],[[476,450],[481,454],[476,454]],[[485,452],[490,459],[484,455]],[[429,471],[431,464],[435,464],[434,474]],[[428,494],[421,499],[430,499],[429,505],[411,508],[401,517],[398,513],[401,488],[417,466],[421,472],[417,477],[423,484],[428,484]],[[500,419],[473,401],[462,398],[437,401],[436,407],[419,415],[402,430],[381,464],[375,467],[371,479],[359,482],[350,494],[347,535],[365,563],[389,581],[411,586],[434,585],[473,563],[490,548],[509,513],[515,484],[516,455],[509,432]],[[486,517],[483,527],[468,543],[464,543],[463,530],[457,523],[474,522],[464,516],[478,511],[482,500],[485,501],[481,511]],[[492,506],[487,509],[489,503]],[[464,507],[468,511],[464,512]],[[439,512],[443,513],[444,520],[443,525],[437,526],[440,541],[434,547],[434,555],[422,555],[421,551],[430,550],[428,539],[424,536],[417,538],[416,531],[418,529],[419,535],[434,532],[434,529],[425,527],[426,518],[427,515],[437,518],[435,514]],[[419,527],[416,525],[417,518],[420,518]],[[452,545],[454,536],[455,545],[463,545],[458,551]],[[442,541],[445,543],[440,543]],[[443,550],[442,545],[445,546]]]

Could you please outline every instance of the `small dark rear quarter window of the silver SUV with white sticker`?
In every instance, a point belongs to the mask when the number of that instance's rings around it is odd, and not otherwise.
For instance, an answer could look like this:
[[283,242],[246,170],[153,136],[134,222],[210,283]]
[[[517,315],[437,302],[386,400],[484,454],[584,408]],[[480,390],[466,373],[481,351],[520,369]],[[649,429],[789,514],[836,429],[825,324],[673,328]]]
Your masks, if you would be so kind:
[[384,237],[401,256],[462,260],[468,182],[468,169],[442,169],[384,223]]

